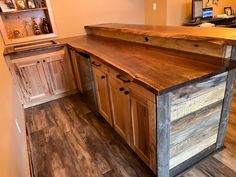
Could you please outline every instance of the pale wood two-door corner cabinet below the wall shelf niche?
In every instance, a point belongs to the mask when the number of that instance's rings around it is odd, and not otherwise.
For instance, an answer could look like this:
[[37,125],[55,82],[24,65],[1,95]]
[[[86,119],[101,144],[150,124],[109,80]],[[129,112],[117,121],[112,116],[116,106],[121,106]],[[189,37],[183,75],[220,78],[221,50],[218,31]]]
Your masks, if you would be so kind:
[[54,50],[25,52],[7,57],[25,107],[60,98],[77,89],[65,48]]

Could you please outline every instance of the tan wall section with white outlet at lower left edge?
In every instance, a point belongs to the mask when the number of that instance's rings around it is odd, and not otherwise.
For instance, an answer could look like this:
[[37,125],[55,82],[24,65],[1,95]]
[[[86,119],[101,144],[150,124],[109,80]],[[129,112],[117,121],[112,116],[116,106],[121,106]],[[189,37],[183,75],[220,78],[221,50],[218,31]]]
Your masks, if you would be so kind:
[[[3,48],[0,39],[0,176],[26,177],[28,166],[23,109],[2,56]],[[16,120],[21,127],[21,134],[16,128]]]

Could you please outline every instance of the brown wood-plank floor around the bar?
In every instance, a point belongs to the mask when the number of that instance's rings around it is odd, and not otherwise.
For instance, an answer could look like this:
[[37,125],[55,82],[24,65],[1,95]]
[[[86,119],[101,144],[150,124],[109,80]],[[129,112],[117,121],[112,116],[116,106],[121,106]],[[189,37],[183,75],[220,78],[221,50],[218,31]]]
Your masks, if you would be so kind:
[[[34,177],[155,176],[79,95],[29,108],[26,117]],[[179,177],[236,177],[236,99],[225,145]]]

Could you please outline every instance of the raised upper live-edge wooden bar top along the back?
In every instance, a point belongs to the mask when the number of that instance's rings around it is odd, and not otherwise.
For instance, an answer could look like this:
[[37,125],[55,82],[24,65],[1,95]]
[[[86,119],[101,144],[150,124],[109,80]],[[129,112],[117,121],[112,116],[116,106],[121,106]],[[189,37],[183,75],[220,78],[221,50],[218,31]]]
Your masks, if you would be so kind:
[[220,45],[236,45],[236,29],[233,28],[149,26],[109,23],[86,26],[85,29],[106,30],[193,41],[206,41]]

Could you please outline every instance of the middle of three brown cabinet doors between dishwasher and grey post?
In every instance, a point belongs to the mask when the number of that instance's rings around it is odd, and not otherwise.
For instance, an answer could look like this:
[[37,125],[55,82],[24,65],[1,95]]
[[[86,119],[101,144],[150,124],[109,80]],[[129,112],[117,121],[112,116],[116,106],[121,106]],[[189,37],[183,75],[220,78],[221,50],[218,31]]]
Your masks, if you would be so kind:
[[115,130],[130,144],[130,97],[129,91],[118,79],[109,77],[112,118]]

